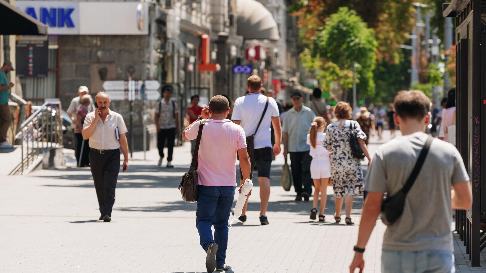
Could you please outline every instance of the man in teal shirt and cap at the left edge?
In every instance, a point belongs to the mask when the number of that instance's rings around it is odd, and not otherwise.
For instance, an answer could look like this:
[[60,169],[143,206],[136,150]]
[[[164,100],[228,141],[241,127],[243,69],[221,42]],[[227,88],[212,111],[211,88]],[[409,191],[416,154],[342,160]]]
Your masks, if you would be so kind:
[[13,83],[7,82],[7,73],[13,71],[12,63],[6,61],[0,68],[0,148],[13,148],[7,142],[7,132],[12,122],[10,119],[10,108],[8,107],[8,99],[10,97],[10,88],[14,87]]

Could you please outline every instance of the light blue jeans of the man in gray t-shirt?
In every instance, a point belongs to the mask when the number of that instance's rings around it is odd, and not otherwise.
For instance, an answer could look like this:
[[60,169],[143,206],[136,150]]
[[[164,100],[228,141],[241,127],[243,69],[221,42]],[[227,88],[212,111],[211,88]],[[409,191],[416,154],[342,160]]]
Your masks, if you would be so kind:
[[454,273],[449,251],[382,251],[382,273]]

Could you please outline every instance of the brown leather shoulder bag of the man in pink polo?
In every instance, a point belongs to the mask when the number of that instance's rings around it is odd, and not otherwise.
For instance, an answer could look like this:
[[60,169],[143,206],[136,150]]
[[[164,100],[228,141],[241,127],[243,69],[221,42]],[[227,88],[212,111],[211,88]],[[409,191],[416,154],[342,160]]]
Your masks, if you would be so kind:
[[181,184],[179,184],[182,200],[188,203],[197,201],[197,154],[199,152],[199,144],[201,143],[204,124],[206,124],[206,119],[201,120],[199,123],[196,147],[194,147],[194,154],[192,154],[191,168],[188,172],[184,173]]

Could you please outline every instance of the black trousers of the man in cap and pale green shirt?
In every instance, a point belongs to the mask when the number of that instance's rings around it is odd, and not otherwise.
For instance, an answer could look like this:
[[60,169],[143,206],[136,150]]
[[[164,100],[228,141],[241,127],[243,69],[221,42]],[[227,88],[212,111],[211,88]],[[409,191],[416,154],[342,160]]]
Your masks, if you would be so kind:
[[[311,162],[312,156],[307,152],[290,152],[292,179],[297,194],[312,194]],[[303,187],[303,188],[302,188]]]

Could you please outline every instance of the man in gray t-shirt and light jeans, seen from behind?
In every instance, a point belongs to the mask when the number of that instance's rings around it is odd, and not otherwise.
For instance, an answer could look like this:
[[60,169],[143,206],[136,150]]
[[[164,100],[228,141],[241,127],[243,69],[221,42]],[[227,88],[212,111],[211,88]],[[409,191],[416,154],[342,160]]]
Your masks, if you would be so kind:
[[[395,99],[396,124],[403,136],[383,144],[371,161],[358,242],[350,272],[364,265],[364,246],[381,210],[384,194],[405,185],[429,137],[430,101],[421,91],[402,91]],[[452,191],[451,191],[452,188]],[[383,236],[382,273],[452,272],[451,208],[468,209],[472,195],[462,157],[450,143],[434,139],[421,171],[405,198],[403,214]]]

